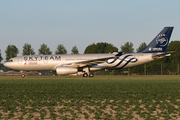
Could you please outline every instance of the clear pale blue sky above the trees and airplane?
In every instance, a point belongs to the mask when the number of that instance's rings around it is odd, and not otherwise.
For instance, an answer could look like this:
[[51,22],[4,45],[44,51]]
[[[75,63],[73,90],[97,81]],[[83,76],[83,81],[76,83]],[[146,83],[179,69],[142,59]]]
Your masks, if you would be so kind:
[[[180,40],[179,0],[0,0],[0,50],[8,45],[22,55],[23,45],[35,53],[44,43],[55,53],[63,44],[68,54],[77,46],[83,54],[93,43],[121,45],[134,50],[149,44],[165,27],[174,26],[171,41]],[[3,61],[4,62],[4,61]]]

